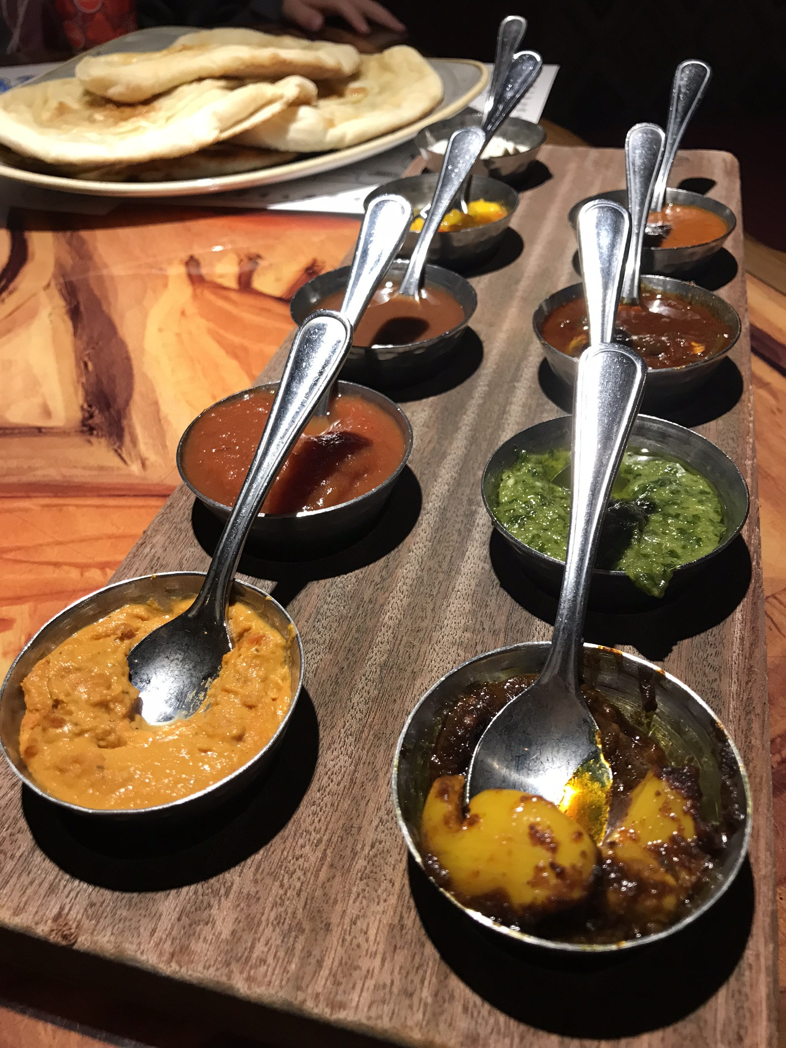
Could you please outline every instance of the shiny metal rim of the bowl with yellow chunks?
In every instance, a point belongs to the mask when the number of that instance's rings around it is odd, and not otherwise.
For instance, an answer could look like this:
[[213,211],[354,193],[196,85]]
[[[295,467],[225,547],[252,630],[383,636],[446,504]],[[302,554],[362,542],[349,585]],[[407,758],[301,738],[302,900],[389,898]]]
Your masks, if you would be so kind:
[[[396,822],[398,823],[398,829],[400,830],[401,835],[405,838],[405,843],[410,852],[410,855],[414,858],[414,860],[417,863],[420,869],[423,870],[423,873],[425,873],[425,869],[423,867],[421,855],[415,846],[415,842],[412,839],[409,828],[407,827],[407,823],[401,813],[400,805],[398,803],[398,761],[405,738],[410,728],[410,724],[415,719],[415,715],[417,714],[420,706],[431,696],[432,692],[436,691],[436,689],[439,687],[441,684],[443,684],[449,677],[458,673],[460,670],[463,670],[465,667],[471,665],[473,662],[480,661],[481,659],[485,659],[494,655],[501,655],[505,652],[518,651],[522,648],[536,648],[536,647],[548,648],[549,643],[550,641],[548,640],[527,640],[518,645],[506,645],[502,648],[495,648],[493,651],[482,652],[480,655],[475,655],[472,658],[466,659],[460,665],[454,667],[453,670],[450,670],[447,673],[443,674],[443,676],[440,677],[439,680],[436,681],[436,683],[432,684],[429,691],[425,692],[425,694],[420,697],[415,707],[412,709],[409,717],[407,718],[407,721],[403,727],[401,728],[401,732],[398,736],[398,740],[396,742],[395,755],[393,758],[393,770],[391,774],[391,791],[393,793],[393,807],[396,813]],[[683,692],[686,692],[694,702],[696,702],[701,708],[703,708],[706,713],[709,714],[716,725],[722,732],[723,737],[726,743],[728,744],[729,748],[732,749],[732,754],[734,755],[735,760],[737,761],[737,766],[740,771],[740,779],[742,780],[743,789],[745,791],[745,827],[744,827],[743,839],[741,843],[739,854],[737,855],[734,866],[729,870],[728,874],[723,878],[723,880],[719,881],[719,883],[715,886],[713,892],[706,899],[703,900],[703,902],[700,905],[698,905],[695,910],[692,910],[691,913],[685,914],[685,916],[682,917],[680,920],[678,920],[676,923],[670,925],[667,929],[663,929],[661,932],[656,932],[653,935],[641,936],[640,939],[621,939],[619,942],[608,942],[608,943],[560,942],[553,939],[542,939],[540,936],[530,935],[526,932],[515,931],[514,929],[507,927],[505,924],[502,924],[499,921],[493,920],[493,918],[490,917],[486,917],[485,914],[482,914],[477,910],[472,910],[470,907],[463,905],[463,903],[459,902],[458,899],[456,899],[453,895],[451,895],[449,891],[446,891],[446,889],[441,888],[439,885],[437,885],[437,882],[433,880],[433,878],[429,877],[429,880],[431,881],[433,887],[436,888],[437,891],[439,891],[444,898],[449,899],[458,910],[461,910],[463,913],[470,916],[473,920],[477,921],[479,924],[483,924],[485,927],[488,927],[494,932],[498,932],[501,935],[504,935],[506,938],[514,939],[518,942],[525,942],[533,946],[541,946],[546,949],[553,949],[556,952],[564,951],[570,954],[612,954],[623,949],[631,949],[636,946],[649,945],[653,942],[657,942],[660,939],[665,939],[669,936],[674,935],[676,932],[686,927],[689,924],[693,923],[693,921],[697,920],[702,914],[706,913],[709,907],[714,905],[715,902],[718,901],[718,899],[726,892],[729,886],[734,882],[735,878],[737,877],[737,874],[740,872],[742,864],[745,860],[745,856],[747,855],[748,845],[750,842],[750,832],[752,828],[752,798],[750,794],[750,782],[748,780],[747,769],[745,768],[745,764],[743,763],[742,757],[740,756],[740,751],[735,745],[734,740],[729,736],[728,732],[726,732],[725,725],[720,720],[715,711],[709,705],[707,705],[707,703],[704,702],[704,700],[699,695],[697,695],[696,692],[693,691],[693,689],[689,687],[687,684],[683,683],[678,677],[675,677],[667,670],[663,670],[661,667],[654,665],[652,662],[648,662],[647,659],[641,658],[641,656],[639,655],[631,655],[628,652],[620,652],[616,648],[610,648],[607,645],[591,645],[587,643],[586,641],[584,642],[583,648],[585,651],[587,649],[590,649],[593,651],[611,652],[612,654],[614,654],[614,656],[619,656],[623,659],[623,661],[628,660],[630,662],[635,663],[639,668],[646,668],[647,670],[653,671],[658,676],[665,678],[671,683],[681,689]],[[428,877],[429,874],[427,873],[425,876]]]

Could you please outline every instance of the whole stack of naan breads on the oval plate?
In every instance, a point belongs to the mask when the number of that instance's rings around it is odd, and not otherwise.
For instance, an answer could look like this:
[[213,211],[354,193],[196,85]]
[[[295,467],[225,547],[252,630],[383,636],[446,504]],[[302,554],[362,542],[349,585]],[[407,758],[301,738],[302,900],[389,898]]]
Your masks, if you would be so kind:
[[0,96],[0,159],[75,178],[163,181],[286,163],[430,112],[442,83],[412,47],[205,29],[162,51],[82,59]]

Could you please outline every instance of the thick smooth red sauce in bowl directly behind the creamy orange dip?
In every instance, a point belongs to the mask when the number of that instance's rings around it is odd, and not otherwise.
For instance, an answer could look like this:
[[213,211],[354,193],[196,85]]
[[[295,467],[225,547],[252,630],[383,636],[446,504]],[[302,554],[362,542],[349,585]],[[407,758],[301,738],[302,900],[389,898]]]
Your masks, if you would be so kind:
[[[269,390],[209,408],[183,443],[180,462],[200,495],[231,506],[240,493],[272,405]],[[262,505],[298,514],[349,502],[378,487],[403,460],[405,437],[378,405],[335,394],[328,417],[312,418]]]

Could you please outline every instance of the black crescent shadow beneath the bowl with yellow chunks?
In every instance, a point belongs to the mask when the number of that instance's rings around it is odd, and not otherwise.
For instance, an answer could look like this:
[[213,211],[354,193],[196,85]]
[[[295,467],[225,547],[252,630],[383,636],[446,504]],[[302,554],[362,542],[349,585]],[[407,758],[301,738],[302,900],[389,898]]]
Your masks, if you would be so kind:
[[746,860],[725,895],[674,936],[604,958],[565,958],[477,924],[413,859],[410,889],[442,960],[476,994],[529,1026],[582,1039],[635,1036],[690,1016],[737,967],[754,917]]

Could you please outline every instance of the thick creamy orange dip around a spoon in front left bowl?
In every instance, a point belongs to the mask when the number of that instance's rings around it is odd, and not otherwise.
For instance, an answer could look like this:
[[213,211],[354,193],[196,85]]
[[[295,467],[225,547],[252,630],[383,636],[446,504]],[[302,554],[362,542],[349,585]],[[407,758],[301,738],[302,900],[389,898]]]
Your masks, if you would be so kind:
[[118,608],[27,674],[19,745],[47,793],[84,808],[150,808],[197,793],[267,745],[292,700],[287,642],[242,604],[228,609],[233,648],[197,713],[155,726],[138,715],[128,653],[193,599]]

